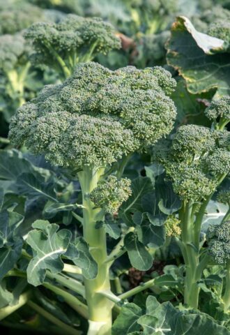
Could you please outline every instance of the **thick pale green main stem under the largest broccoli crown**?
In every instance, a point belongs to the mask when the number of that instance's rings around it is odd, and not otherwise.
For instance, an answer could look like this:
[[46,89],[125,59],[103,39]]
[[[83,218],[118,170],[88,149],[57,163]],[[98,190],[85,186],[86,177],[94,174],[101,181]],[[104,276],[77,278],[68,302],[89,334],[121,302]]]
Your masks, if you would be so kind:
[[82,188],[83,202],[83,234],[89,244],[91,255],[98,263],[98,275],[95,279],[84,278],[86,289],[86,301],[89,307],[89,331],[88,335],[111,335],[112,307],[114,303],[109,301],[100,292],[110,290],[109,264],[107,258],[106,234],[104,228],[95,228],[95,223],[101,220],[100,209],[95,209],[89,199],[89,193],[98,185],[104,169],[93,170],[85,167],[78,173]]

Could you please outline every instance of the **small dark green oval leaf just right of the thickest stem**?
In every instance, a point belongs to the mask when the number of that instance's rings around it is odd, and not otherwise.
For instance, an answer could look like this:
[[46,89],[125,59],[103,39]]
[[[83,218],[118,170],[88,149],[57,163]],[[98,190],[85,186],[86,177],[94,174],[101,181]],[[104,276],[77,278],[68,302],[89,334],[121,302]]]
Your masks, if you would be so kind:
[[139,241],[137,234],[129,232],[125,235],[124,244],[133,267],[142,271],[151,268],[153,257],[148,253],[144,244]]

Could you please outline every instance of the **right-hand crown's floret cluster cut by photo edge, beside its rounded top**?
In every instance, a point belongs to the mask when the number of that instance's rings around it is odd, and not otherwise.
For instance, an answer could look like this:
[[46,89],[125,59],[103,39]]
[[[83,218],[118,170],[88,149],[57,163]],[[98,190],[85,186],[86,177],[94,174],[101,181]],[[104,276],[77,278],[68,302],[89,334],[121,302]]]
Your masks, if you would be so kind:
[[230,151],[216,149],[204,158],[204,165],[213,174],[228,174],[230,172]]

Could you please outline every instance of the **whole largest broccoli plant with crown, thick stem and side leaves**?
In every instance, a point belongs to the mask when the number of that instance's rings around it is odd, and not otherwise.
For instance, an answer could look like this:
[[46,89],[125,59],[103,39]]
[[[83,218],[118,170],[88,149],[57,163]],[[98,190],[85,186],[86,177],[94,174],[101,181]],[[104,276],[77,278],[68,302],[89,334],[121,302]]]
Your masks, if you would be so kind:
[[[68,246],[67,232],[56,232],[56,225],[35,223],[27,239],[33,248],[27,274],[29,283],[40,285],[45,274],[61,271],[60,262],[52,264],[50,255],[63,254],[82,267],[89,335],[111,334],[112,306],[120,300],[110,290],[109,268],[114,260],[127,248],[131,262],[139,260],[143,269],[152,265],[153,258],[138,240],[132,223],[107,254],[105,214],[116,214],[130,196],[130,181],[122,178],[130,156],[171,131],[176,108],[169,96],[175,86],[171,74],[160,67],[137,70],[129,66],[112,71],[88,62],[63,84],[45,87],[37,98],[22,105],[11,121],[13,145],[24,143],[33,154],[45,155],[47,161],[67,168],[79,179],[82,215],[75,217],[82,224],[83,237]],[[132,204],[133,200],[130,210]],[[45,255],[38,246],[41,234],[54,243],[40,242]],[[86,253],[88,267],[78,253]]]

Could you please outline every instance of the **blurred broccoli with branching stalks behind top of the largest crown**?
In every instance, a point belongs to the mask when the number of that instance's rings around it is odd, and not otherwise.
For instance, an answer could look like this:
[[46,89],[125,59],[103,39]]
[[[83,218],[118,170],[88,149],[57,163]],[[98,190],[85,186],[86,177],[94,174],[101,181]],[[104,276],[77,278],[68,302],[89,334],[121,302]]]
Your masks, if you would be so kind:
[[99,53],[121,47],[111,24],[99,17],[66,15],[59,23],[32,24],[24,34],[34,52],[31,62],[44,64],[69,77],[79,62],[91,61]]

